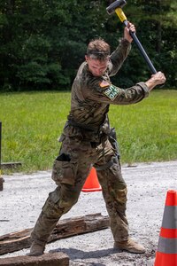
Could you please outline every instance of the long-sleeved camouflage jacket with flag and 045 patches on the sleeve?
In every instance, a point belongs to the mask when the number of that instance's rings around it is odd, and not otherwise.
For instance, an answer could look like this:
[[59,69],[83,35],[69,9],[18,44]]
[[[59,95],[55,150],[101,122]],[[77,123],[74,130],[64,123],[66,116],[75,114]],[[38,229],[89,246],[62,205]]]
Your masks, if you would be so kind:
[[81,64],[73,81],[71,111],[63,136],[97,141],[100,132],[108,134],[110,131],[107,115],[110,104],[135,104],[148,96],[149,90],[144,82],[120,89],[110,80],[110,77],[119,71],[130,48],[130,43],[123,39],[113,51],[107,70],[101,77],[89,72],[87,62]]

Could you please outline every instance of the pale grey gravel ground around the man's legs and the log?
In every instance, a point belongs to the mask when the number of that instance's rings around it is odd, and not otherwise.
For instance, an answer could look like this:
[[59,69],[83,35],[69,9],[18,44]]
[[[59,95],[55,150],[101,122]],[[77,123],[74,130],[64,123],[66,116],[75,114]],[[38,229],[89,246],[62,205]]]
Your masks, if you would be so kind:
[[[148,266],[152,265],[158,247],[166,192],[176,190],[177,161],[141,163],[122,167],[127,182],[127,218],[130,235],[147,249],[145,254],[117,252],[112,248],[110,229],[91,232],[50,243],[46,252],[65,252],[70,265]],[[4,177],[0,192],[0,235],[34,227],[48,193],[55,188],[50,171],[33,175],[14,174]],[[102,192],[81,192],[79,202],[63,219],[101,213],[107,215]],[[23,249],[0,258],[25,255]]]

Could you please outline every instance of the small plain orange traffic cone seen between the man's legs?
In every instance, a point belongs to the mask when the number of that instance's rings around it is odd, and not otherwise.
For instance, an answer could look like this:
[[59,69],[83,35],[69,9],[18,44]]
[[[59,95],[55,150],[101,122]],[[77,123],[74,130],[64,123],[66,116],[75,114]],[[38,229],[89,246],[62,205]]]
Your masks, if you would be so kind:
[[82,192],[99,192],[102,188],[98,182],[96,175],[96,168],[91,168],[89,176],[86,179],[85,184],[83,185]]

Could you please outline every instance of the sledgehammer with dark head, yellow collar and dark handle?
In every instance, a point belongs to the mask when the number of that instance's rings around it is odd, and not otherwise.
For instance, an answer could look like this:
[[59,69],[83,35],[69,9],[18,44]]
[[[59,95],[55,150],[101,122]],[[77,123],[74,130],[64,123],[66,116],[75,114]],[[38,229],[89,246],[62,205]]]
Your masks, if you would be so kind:
[[[119,20],[124,23],[124,25],[127,26],[127,17],[122,11],[122,7],[126,5],[127,2],[125,0],[116,0],[112,4],[110,4],[107,8],[106,11],[108,12],[109,15],[111,15],[113,12],[116,12],[116,14],[119,17]],[[146,63],[150,67],[150,71],[152,74],[156,74],[157,70],[156,68],[152,65],[152,62],[150,61],[146,51],[144,51],[142,44],[138,40],[137,36],[135,35],[135,32],[129,31],[129,34],[131,35],[132,39],[134,40],[135,44],[137,45],[137,48],[139,51],[142,53],[142,57],[145,59]]]

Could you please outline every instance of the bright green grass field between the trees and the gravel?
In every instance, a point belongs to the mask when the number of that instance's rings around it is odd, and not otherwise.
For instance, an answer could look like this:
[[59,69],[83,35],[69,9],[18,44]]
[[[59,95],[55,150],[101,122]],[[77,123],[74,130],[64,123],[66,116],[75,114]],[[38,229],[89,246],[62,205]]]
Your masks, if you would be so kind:
[[[70,92],[0,94],[2,161],[20,171],[52,167],[70,109]],[[122,163],[177,160],[177,90],[153,90],[132,106],[111,106]],[[17,169],[16,169],[17,170]]]

